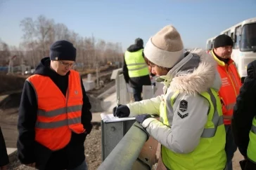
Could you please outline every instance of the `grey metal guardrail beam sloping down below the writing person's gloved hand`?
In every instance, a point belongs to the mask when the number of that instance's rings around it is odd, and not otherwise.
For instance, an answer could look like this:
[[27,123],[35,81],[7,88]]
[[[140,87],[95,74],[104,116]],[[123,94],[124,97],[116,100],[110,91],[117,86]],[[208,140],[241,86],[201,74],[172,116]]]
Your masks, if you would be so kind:
[[[98,170],[151,169],[155,162],[154,155],[157,143],[156,146],[145,148],[144,145],[147,143],[148,137],[146,130],[138,122],[134,122],[134,125],[132,125],[122,140],[117,143],[117,146],[105,158],[101,166],[98,167]],[[146,154],[141,154],[141,150],[145,151],[146,149],[148,150],[144,152]]]

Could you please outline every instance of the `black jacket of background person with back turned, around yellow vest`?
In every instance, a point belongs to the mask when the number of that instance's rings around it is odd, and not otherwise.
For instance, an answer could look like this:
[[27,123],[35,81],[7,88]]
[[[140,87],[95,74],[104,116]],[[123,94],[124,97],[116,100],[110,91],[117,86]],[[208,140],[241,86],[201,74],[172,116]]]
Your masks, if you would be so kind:
[[[134,44],[134,45],[130,45],[129,48],[127,48],[127,51],[136,52],[141,49],[143,49],[143,47],[139,47],[138,45]],[[130,78],[125,59],[124,59],[124,65],[122,66],[122,71],[124,74],[124,80],[126,81],[126,83],[129,83],[131,87],[141,87],[142,85],[151,85],[151,78],[149,77],[149,75]]]

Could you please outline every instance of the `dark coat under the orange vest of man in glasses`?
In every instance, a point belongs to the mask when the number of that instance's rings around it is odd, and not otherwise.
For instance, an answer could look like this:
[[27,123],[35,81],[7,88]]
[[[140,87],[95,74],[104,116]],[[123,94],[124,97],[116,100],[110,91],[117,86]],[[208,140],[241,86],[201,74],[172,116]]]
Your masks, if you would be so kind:
[[[41,63],[37,66],[34,74],[49,76],[63,94],[66,94],[68,88],[68,75],[60,76],[58,73],[50,69],[50,59],[46,57],[41,59]],[[81,80],[82,82],[82,80]],[[88,134],[91,132],[91,104],[82,85],[83,106],[82,106],[82,124]],[[42,146],[34,140],[35,123],[37,120],[37,98],[34,89],[30,83],[25,81],[23,94],[20,101],[19,118],[18,118],[18,158],[23,164],[36,162],[36,167],[39,169],[58,170],[58,169],[73,169],[85,159],[84,156],[84,140],[86,134],[75,134],[72,132],[72,137],[68,146],[65,148],[52,151]]]

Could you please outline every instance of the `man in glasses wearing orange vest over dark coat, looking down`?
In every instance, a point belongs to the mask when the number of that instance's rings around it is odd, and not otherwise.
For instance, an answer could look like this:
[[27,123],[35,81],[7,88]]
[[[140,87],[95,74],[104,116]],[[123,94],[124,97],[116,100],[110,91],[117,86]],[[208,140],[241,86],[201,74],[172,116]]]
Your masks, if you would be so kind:
[[91,104],[72,68],[76,48],[56,41],[25,80],[18,117],[18,159],[40,170],[87,170],[84,141],[91,132]]

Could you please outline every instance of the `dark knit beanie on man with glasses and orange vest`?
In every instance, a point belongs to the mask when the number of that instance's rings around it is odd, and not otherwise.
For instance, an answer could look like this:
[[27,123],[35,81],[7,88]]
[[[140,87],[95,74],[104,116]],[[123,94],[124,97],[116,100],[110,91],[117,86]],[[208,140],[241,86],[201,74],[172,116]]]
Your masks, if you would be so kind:
[[74,61],[77,56],[77,49],[72,43],[60,40],[53,43],[50,47],[51,60],[69,60]]

